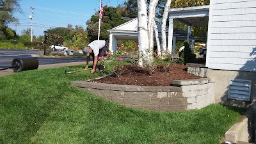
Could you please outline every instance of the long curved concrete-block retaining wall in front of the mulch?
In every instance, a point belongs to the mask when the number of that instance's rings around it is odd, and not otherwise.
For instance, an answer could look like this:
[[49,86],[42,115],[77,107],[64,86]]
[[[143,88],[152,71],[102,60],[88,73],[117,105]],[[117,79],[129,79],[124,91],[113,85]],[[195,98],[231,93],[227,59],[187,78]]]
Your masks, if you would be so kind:
[[[188,84],[193,84],[189,86]],[[124,106],[154,111],[199,109],[214,102],[211,79],[175,81],[175,86],[133,86],[74,81],[72,84]]]

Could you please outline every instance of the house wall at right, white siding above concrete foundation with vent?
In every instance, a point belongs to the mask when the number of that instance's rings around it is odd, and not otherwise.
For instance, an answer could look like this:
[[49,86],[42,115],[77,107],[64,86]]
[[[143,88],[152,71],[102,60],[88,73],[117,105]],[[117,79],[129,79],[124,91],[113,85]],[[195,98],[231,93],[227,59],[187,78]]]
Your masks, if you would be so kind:
[[211,1],[206,67],[207,77],[216,79],[216,100],[241,106],[250,103],[228,100],[229,96],[255,103],[255,58],[256,0]]

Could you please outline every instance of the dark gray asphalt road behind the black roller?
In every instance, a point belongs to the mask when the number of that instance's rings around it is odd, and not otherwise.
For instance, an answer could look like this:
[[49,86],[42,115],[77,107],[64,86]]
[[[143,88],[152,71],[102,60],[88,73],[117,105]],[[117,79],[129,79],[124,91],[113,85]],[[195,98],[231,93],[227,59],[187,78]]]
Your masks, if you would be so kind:
[[[12,66],[14,58],[30,58],[31,54],[38,54],[40,50],[12,50],[0,49],[0,68]],[[78,53],[78,52],[77,52]],[[74,52],[76,54],[76,52]],[[55,63],[72,63],[77,61],[86,61],[85,58],[37,58],[39,65],[48,65]]]

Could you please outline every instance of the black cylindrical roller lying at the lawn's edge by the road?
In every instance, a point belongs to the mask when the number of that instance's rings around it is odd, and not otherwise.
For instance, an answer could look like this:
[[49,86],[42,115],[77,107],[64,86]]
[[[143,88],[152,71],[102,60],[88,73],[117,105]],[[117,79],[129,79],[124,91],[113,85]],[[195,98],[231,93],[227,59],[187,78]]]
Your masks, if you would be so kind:
[[35,70],[38,68],[38,60],[36,58],[15,58],[12,60],[12,69],[14,72],[22,70]]

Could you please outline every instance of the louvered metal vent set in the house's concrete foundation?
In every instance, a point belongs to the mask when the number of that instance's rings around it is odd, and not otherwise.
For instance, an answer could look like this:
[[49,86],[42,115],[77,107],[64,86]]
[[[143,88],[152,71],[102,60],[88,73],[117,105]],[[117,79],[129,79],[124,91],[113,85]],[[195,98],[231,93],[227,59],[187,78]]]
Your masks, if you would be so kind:
[[228,99],[251,100],[251,80],[229,79]]

